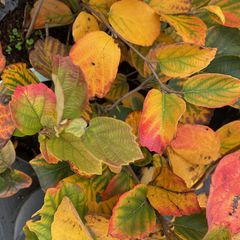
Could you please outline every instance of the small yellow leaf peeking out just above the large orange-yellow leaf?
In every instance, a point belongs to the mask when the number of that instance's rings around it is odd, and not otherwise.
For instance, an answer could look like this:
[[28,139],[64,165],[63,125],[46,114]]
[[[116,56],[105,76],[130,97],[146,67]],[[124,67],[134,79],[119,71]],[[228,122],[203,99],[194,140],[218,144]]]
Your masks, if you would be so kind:
[[82,11],[79,13],[72,26],[73,39],[76,42],[87,33],[98,30],[99,26],[97,19],[93,15]]

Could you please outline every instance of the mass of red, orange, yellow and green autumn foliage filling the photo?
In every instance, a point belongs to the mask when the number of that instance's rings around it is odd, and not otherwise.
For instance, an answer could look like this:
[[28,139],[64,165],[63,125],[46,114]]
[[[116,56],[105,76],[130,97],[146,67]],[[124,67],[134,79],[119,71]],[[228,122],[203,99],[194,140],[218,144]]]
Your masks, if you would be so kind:
[[29,54],[51,87],[0,48],[0,197],[31,183],[10,170],[11,136],[41,152],[26,239],[238,239],[240,120],[210,121],[240,109],[240,2],[48,0],[46,24],[73,36]]

